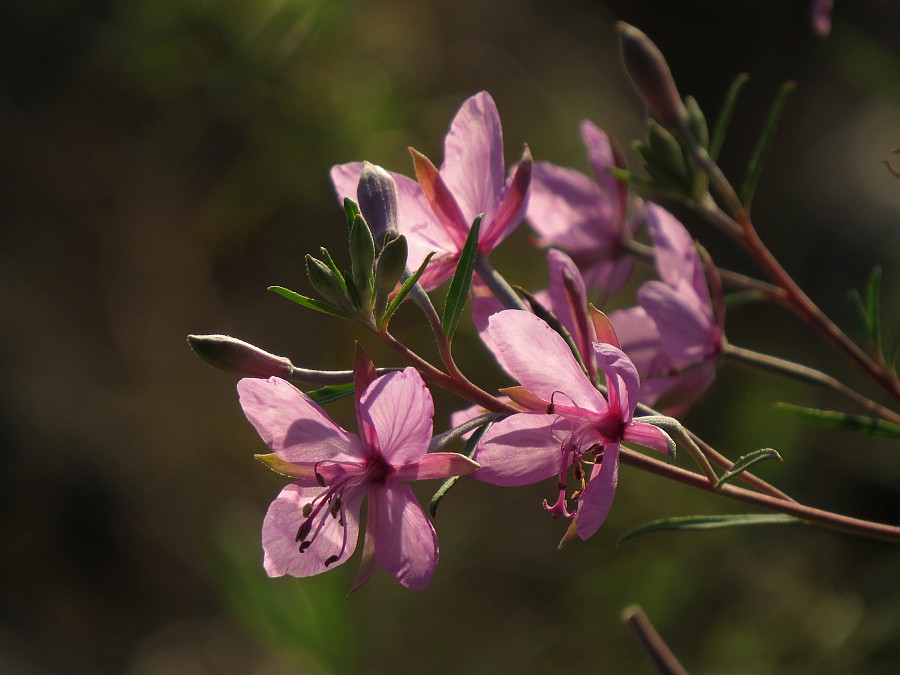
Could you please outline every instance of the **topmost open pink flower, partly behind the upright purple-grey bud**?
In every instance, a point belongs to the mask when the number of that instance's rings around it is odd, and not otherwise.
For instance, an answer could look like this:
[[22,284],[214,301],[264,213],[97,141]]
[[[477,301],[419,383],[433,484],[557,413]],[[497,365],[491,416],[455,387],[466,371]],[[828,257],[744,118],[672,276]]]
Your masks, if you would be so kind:
[[[411,269],[436,252],[420,280],[432,289],[453,275],[478,214],[484,214],[478,237],[483,255],[522,222],[531,182],[531,153],[526,147],[506,180],[500,116],[485,91],[467,99],[453,118],[440,170],[424,155],[411,151],[419,182],[391,174],[397,184],[399,229],[407,238]],[[339,199],[356,194],[362,168],[362,162],[351,162],[331,169]]]

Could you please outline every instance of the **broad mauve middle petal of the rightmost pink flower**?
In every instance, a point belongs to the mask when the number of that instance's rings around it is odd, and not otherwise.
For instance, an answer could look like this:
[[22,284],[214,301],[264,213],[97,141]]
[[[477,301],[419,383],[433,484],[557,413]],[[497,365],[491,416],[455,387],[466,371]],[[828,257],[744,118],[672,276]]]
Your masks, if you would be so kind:
[[703,304],[686,281],[676,287],[648,281],[638,301],[656,323],[660,345],[676,368],[697,363],[716,351],[721,333],[709,304]]

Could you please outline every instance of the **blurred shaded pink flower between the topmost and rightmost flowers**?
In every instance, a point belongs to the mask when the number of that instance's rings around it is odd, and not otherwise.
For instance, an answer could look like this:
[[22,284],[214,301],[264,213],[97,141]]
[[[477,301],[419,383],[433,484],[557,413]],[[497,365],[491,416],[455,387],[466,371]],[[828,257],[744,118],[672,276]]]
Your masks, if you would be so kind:
[[589,288],[612,293],[634,266],[623,248],[642,222],[640,209],[628,215],[628,186],[609,169],[624,160],[607,135],[593,123],[581,123],[593,179],[549,162],[535,162],[527,218],[540,243],[566,251]]

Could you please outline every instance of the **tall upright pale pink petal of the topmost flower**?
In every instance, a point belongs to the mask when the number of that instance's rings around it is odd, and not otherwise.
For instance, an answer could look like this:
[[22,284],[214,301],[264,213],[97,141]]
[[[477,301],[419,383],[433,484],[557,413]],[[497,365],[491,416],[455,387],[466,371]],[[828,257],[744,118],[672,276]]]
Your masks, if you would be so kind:
[[506,178],[503,130],[494,99],[486,91],[463,102],[444,139],[441,177],[456,197],[468,225],[484,213],[490,222]]

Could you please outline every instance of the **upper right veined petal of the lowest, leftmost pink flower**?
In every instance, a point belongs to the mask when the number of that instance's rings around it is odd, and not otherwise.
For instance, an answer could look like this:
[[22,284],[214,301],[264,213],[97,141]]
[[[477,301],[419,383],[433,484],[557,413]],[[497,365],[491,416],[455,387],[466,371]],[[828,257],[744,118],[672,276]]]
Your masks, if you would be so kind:
[[363,392],[360,407],[389,464],[414,464],[428,451],[434,404],[415,368],[379,377]]

